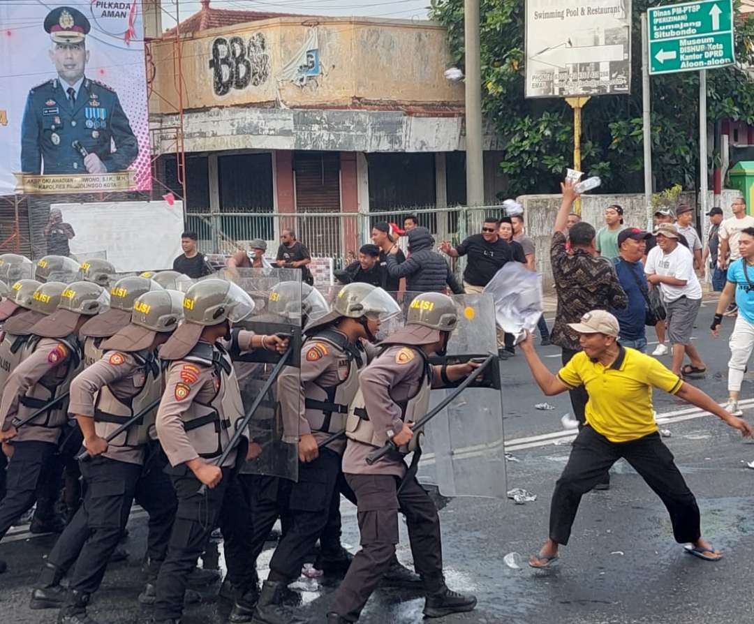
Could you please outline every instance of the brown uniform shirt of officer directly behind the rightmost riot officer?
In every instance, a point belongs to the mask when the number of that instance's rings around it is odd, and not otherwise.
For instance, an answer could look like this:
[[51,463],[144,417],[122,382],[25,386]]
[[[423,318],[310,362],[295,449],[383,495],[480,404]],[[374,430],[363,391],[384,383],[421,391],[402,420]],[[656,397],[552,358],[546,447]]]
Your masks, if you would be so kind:
[[[301,349],[300,378],[299,369],[289,366],[280,373],[278,390],[284,429],[298,431],[299,436],[313,434],[317,443],[327,439],[330,433],[311,430],[311,423],[306,418],[304,384],[333,387],[348,378],[350,370],[351,363],[342,350],[329,342],[317,341],[317,338],[307,341]],[[338,439],[327,448],[342,453],[345,439]]]

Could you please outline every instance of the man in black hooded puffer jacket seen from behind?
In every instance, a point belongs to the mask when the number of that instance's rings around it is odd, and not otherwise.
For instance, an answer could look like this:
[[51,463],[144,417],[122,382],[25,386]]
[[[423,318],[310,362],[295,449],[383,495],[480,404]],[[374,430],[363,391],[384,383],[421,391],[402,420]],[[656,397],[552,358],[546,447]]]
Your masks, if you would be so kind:
[[405,277],[406,290],[411,292],[445,292],[450,288],[456,295],[464,289],[458,284],[445,258],[432,251],[434,238],[427,228],[414,228],[409,231],[409,252],[405,262],[398,264],[398,246],[388,252],[388,275]]

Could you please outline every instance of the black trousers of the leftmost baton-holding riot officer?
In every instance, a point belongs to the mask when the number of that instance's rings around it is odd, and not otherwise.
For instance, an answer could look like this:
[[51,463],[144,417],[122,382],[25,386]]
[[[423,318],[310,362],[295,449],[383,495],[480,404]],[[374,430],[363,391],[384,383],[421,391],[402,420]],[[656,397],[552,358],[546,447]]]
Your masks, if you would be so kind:
[[32,508],[35,500],[44,497],[44,486],[55,470],[57,444],[52,442],[16,442],[14,454],[8,460],[6,494],[0,502],[0,539],[14,522]]

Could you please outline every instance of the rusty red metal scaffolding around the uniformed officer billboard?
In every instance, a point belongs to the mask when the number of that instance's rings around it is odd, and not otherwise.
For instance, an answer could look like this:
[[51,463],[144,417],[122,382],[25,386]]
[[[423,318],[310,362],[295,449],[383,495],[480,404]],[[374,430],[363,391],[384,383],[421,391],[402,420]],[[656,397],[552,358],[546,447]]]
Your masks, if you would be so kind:
[[[167,4],[167,3],[166,3]],[[143,199],[158,200],[166,193],[173,194],[176,200],[183,203],[185,211],[186,201],[186,180],[185,180],[185,151],[183,142],[183,74],[182,74],[182,36],[180,32],[180,0],[170,2],[169,8],[162,6],[160,0],[141,0],[142,14],[144,17],[144,30],[147,32],[146,18],[152,17],[153,26],[155,26],[156,37],[144,37],[144,63],[146,65],[146,87],[147,100],[152,101],[152,97],[166,102],[173,109],[175,115],[174,121],[167,126],[152,127],[150,119],[149,142],[151,146],[150,154],[150,176],[152,179],[152,191],[149,194],[142,192],[136,193]],[[172,9],[174,8],[174,11]],[[169,36],[162,36],[161,17],[165,15],[175,20],[176,28]],[[155,76],[157,66],[155,58],[152,55],[153,44],[156,41],[172,41],[173,57],[173,84],[176,88],[176,102],[170,101],[164,94],[155,89]],[[151,117],[151,115],[149,115]],[[162,150],[164,146],[166,150]],[[163,153],[174,153],[176,158],[176,172],[178,179],[178,188],[168,187],[160,176],[160,155]],[[130,191],[129,191],[130,192]],[[134,193],[131,193],[134,194]],[[95,197],[97,201],[107,201],[112,197],[118,197],[115,193],[91,193],[84,197]],[[34,210],[32,199],[34,196],[23,193],[9,194],[0,196],[0,253],[20,253],[33,257],[34,249]]]

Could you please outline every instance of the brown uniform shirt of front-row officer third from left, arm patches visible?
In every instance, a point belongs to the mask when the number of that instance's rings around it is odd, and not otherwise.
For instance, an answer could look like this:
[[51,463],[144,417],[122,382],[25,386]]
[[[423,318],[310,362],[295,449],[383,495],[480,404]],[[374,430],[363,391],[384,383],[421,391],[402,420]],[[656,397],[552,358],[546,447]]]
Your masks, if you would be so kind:
[[[254,332],[238,332],[238,346],[241,351],[251,350],[251,338]],[[228,347],[227,341],[220,341]],[[213,366],[204,366],[198,362],[188,362],[177,359],[170,363],[167,370],[167,382],[165,391],[157,411],[155,427],[163,451],[167,455],[171,466],[195,460],[199,457],[198,452],[189,441],[189,436],[183,428],[182,414],[185,414],[192,402],[197,401],[209,405],[217,394],[222,383]],[[227,418],[227,414],[220,414],[220,418]],[[201,427],[202,433],[216,439],[217,434],[213,427]],[[228,431],[232,435],[231,431]],[[234,466],[236,451],[228,454],[222,467]],[[207,463],[215,463],[215,460],[206,460]]]

